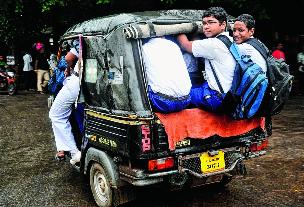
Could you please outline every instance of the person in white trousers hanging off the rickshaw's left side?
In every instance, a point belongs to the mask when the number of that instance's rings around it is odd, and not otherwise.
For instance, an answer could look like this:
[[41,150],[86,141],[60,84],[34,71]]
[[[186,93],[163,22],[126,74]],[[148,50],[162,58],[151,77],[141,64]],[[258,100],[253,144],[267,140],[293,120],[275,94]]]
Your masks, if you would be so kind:
[[74,60],[78,57],[79,41],[76,40],[74,41],[74,47],[65,56],[68,66],[65,71],[65,78],[68,69],[71,71],[74,68],[74,72],[64,80],[63,87],[57,94],[49,112],[58,151],[55,158],[65,160],[64,151],[69,151],[72,165],[78,163],[81,156],[72,133],[71,123],[68,120],[79,91],[78,61],[74,65]]

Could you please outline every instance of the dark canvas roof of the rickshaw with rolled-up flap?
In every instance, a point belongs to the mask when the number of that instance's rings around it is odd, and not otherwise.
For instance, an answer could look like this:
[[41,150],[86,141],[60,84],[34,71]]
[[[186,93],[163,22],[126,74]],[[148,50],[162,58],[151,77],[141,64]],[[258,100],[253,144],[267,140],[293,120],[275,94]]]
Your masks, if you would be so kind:
[[[63,36],[61,36],[59,43],[62,43],[65,38],[79,35],[104,35],[105,38],[114,30],[124,25],[121,32],[126,32],[125,28],[135,26],[142,31],[147,31],[154,26],[156,35],[167,35],[174,33],[202,33],[202,13],[204,10],[164,10],[164,11],[147,11],[147,12],[134,12],[110,15],[105,17],[98,17],[85,22],[81,22],[68,29]],[[228,15],[228,21],[235,19]],[[150,23],[151,22],[151,23]],[[143,26],[140,26],[143,25]],[[150,27],[148,26],[150,25]],[[131,32],[132,33],[132,32]],[[148,33],[143,33],[147,37]],[[136,35],[135,35],[136,36]],[[153,37],[149,36],[149,37]],[[130,35],[129,38],[134,38]],[[137,37],[139,38],[139,36]],[[143,37],[141,37],[143,38]]]

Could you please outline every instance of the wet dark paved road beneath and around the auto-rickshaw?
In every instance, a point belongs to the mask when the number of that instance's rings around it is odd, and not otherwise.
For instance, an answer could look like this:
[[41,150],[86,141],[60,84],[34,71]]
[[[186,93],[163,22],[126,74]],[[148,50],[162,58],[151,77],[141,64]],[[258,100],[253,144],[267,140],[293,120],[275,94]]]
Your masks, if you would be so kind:
[[[0,91],[0,206],[97,206],[88,180],[57,161],[48,118],[50,94]],[[224,188],[162,191],[141,187],[121,207],[303,206],[304,97],[291,96],[273,117],[267,154],[246,160],[247,176]]]

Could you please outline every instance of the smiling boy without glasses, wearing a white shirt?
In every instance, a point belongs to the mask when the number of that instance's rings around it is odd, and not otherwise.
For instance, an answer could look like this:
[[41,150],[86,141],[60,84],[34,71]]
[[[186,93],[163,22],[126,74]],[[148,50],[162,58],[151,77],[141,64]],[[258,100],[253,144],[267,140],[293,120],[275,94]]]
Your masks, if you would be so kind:
[[246,41],[254,38],[255,21],[253,16],[242,14],[237,17],[233,25],[233,39],[237,43],[242,55],[250,56],[252,62],[258,64],[266,73],[267,64],[264,57],[253,46],[247,44]]

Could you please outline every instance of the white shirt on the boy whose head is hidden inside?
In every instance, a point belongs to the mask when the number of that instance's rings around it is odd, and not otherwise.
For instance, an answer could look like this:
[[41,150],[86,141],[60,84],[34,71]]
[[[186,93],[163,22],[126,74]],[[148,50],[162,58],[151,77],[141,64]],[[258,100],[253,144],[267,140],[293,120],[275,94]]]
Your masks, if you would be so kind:
[[143,44],[143,60],[148,85],[154,93],[159,92],[173,97],[189,94],[191,80],[176,43],[162,38],[150,39]]

